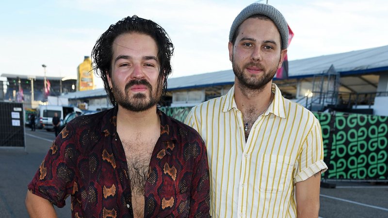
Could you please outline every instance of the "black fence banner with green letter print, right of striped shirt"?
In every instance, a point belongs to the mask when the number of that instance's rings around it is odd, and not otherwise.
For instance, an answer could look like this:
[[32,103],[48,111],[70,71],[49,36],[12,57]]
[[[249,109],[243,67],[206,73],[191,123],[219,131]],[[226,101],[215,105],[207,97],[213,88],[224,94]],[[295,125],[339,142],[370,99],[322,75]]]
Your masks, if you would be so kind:
[[388,179],[388,117],[314,113],[322,127],[326,179]]

